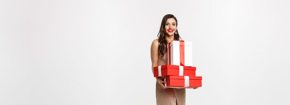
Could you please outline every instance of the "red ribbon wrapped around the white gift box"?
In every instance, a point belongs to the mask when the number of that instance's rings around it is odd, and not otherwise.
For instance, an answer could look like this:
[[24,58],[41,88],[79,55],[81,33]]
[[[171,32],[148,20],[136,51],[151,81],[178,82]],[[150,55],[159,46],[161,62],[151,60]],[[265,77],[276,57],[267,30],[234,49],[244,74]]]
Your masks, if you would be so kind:
[[[176,39],[173,41],[177,41]],[[172,42],[172,41],[171,41]],[[171,64],[171,55],[170,55],[170,43],[168,43],[168,57],[169,64]],[[180,66],[184,66],[184,41],[179,41],[179,53],[180,53]]]

